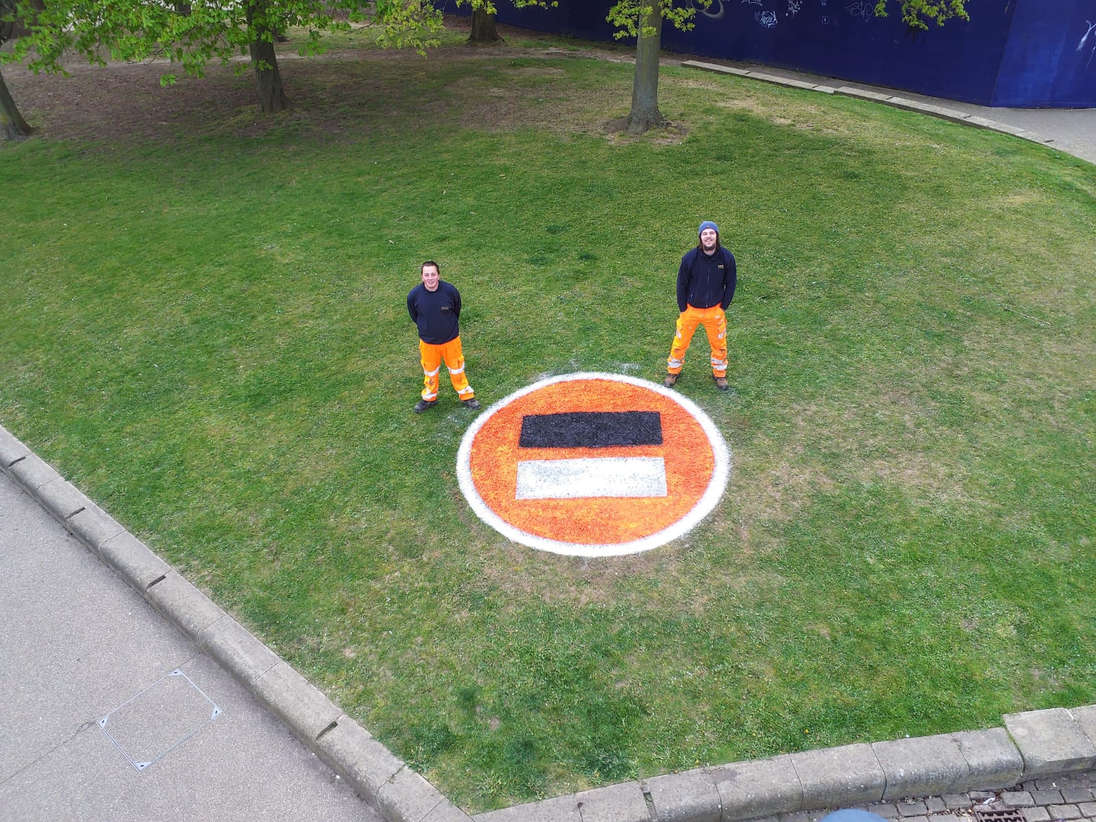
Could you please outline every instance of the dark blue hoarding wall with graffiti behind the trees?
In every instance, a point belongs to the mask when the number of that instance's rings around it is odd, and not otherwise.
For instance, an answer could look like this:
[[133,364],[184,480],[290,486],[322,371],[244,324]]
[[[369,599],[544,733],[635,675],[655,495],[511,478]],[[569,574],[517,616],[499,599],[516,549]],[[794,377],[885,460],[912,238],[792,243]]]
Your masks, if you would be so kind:
[[[450,0],[452,3],[452,0]],[[449,3],[447,3],[449,5]],[[612,0],[555,9],[496,2],[499,21],[609,41]],[[971,0],[970,21],[929,30],[877,16],[875,0],[712,0],[696,25],[669,23],[663,47],[809,71],[981,105],[1096,106],[1096,0]],[[627,42],[627,41],[626,41]]]

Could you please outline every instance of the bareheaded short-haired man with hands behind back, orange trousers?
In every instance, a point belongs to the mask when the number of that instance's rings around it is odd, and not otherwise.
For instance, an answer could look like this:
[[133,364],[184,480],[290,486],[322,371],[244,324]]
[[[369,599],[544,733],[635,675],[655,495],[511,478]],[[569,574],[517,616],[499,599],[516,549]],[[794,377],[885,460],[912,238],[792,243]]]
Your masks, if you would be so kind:
[[442,361],[449,369],[449,380],[465,408],[479,408],[476,392],[465,376],[465,355],[460,350],[460,293],[442,279],[437,263],[427,260],[419,270],[422,283],[408,294],[408,313],[419,327],[419,357],[422,361],[422,399],[414,412],[437,404],[438,373]]

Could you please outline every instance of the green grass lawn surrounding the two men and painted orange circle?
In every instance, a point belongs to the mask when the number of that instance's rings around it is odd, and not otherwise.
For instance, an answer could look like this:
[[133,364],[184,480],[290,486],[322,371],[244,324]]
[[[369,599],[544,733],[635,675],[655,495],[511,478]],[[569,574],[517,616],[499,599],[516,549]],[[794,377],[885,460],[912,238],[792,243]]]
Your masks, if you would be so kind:
[[[1096,168],[680,68],[626,140],[630,66],[512,46],[0,146],[0,423],[471,811],[1096,701]],[[473,415],[411,412],[419,263],[484,403],[659,380],[704,218],[734,390],[703,334],[678,387],[724,500],[631,557],[509,543]]]

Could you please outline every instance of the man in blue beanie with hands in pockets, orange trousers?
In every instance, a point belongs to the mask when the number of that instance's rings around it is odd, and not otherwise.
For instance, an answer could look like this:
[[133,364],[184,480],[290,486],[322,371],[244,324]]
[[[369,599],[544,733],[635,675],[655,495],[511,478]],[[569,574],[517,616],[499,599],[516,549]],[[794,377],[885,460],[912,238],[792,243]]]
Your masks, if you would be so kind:
[[666,359],[663,385],[672,388],[685,365],[685,352],[697,326],[704,326],[711,344],[711,375],[716,388],[726,391],[727,383],[727,307],[734,299],[738,273],[734,254],[719,242],[719,226],[711,220],[700,224],[695,249],[682,258],[677,270],[677,331]]

